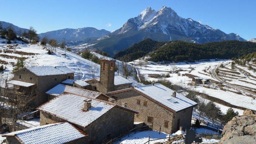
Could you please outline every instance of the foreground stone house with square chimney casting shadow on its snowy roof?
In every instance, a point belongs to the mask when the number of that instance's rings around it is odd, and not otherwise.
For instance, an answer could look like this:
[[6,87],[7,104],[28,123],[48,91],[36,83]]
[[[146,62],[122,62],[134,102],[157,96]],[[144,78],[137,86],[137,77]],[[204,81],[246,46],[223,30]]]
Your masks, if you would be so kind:
[[39,106],[40,125],[69,122],[87,134],[82,143],[99,144],[128,132],[134,127],[137,111],[117,104],[64,92]]

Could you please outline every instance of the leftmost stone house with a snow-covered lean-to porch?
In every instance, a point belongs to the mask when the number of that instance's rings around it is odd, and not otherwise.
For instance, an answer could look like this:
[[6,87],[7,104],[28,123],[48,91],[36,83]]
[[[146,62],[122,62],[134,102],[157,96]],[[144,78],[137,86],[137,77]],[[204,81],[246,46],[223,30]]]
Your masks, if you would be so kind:
[[38,66],[24,67],[14,73],[6,87],[13,88],[21,95],[33,93],[34,107],[47,102],[45,92],[66,79],[74,79],[74,72],[67,67]]

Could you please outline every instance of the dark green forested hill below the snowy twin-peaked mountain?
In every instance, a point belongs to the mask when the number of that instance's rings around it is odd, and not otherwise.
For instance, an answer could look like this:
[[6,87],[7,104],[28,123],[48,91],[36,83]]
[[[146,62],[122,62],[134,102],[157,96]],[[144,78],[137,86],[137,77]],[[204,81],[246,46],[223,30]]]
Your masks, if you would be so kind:
[[237,40],[196,44],[183,41],[155,42],[147,39],[118,52],[114,58],[131,61],[150,55],[150,59],[155,62],[192,61],[210,58],[229,59],[255,51],[256,43]]

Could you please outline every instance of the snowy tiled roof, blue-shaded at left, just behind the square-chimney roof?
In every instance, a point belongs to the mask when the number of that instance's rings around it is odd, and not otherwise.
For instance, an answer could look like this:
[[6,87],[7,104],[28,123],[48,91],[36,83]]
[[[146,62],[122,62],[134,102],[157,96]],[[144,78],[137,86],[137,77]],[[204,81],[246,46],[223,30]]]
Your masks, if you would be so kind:
[[102,94],[102,93],[99,93],[99,92],[95,92],[95,91],[91,91],[91,90],[85,90],[85,89],[76,88],[76,87],[73,87],[73,86],[67,86],[67,85],[63,85],[63,84],[58,84],[54,88],[48,90],[46,93],[49,94],[49,95],[58,96],[58,95],[62,94],[64,91],[74,93],[74,94],[77,94],[77,95],[83,95],[83,96],[86,96],[86,97],[92,97],[92,98],[97,98],[99,95]]

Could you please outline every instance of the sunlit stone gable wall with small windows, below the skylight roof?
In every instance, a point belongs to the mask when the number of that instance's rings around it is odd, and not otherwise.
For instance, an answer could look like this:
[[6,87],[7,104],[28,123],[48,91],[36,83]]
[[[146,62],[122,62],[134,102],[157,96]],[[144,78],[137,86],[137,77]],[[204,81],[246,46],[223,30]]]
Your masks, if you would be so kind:
[[[173,113],[136,93],[135,91],[131,90],[108,96],[116,99],[116,104],[124,106],[124,103],[127,103],[127,108],[138,111],[139,114],[135,114],[134,116],[135,122],[145,122],[147,125],[152,125],[152,123],[147,122],[147,118],[153,117],[154,130],[159,131],[160,127],[161,131],[166,133],[169,133],[172,130]],[[140,104],[137,104],[137,100],[140,101]],[[147,106],[143,106],[144,101],[147,101]],[[168,127],[164,127],[165,122],[168,122]]]

